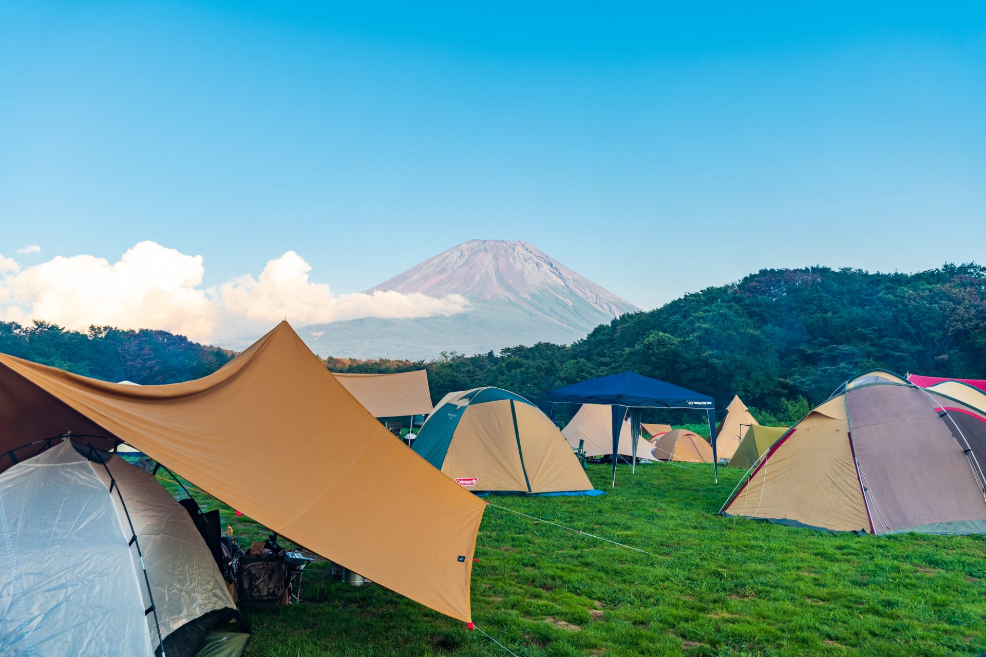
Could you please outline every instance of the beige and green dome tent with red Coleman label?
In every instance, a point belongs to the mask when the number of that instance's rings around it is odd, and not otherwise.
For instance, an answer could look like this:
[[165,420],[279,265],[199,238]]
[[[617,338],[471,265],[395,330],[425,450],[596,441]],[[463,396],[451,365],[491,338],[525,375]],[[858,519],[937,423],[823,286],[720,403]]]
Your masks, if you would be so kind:
[[499,388],[446,396],[421,427],[413,449],[473,490],[593,489],[547,415],[520,395]]

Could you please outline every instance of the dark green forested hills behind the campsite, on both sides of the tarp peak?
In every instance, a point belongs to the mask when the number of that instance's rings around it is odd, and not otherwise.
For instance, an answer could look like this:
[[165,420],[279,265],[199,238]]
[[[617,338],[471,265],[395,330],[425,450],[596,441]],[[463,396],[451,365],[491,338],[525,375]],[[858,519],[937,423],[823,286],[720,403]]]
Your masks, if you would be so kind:
[[[41,322],[0,323],[0,351],[140,384],[205,376],[234,355],[164,330],[78,332]],[[545,408],[553,388],[633,370],[713,396],[720,407],[740,395],[761,421],[792,422],[869,369],[986,376],[986,267],[763,269],[625,315],[573,344],[445,353],[431,362],[326,358],[325,365],[335,372],[427,368],[433,401],[498,386]]]

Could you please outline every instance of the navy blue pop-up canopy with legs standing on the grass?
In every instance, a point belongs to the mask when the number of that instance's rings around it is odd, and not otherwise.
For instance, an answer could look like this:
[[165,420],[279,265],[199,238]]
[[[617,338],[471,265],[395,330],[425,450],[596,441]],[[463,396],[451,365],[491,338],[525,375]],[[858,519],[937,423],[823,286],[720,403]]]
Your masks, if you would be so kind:
[[[693,408],[704,410],[709,419],[709,435],[712,437],[712,457],[716,481],[719,481],[719,457],[716,454],[716,402],[705,395],[680,386],[644,377],[634,372],[613,374],[590,379],[548,393],[548,401],[555,403],[604,403],[612,407],[612,454],[617,453],[619,432],[623,419],[630,411],[633,463],[637,463],[637,442],[640,440],[640,418],[644,408]],[[613,462],[612,485],[616,485],[616,458]]]

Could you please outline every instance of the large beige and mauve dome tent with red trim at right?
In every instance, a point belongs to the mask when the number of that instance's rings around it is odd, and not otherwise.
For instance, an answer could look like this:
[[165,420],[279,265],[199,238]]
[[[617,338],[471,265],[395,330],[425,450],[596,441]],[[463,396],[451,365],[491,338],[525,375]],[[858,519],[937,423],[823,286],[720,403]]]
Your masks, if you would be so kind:
[[775,443],[726,515],[832,531],[986,533],[986,416],[885,372]]

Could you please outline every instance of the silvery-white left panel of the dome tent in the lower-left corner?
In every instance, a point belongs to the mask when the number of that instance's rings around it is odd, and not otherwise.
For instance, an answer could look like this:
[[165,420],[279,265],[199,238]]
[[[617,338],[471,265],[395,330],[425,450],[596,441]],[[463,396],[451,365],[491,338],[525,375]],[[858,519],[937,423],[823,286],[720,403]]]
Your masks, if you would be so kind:
[[67,442],[0,474],[0,654],[152,655],[127,541]]

